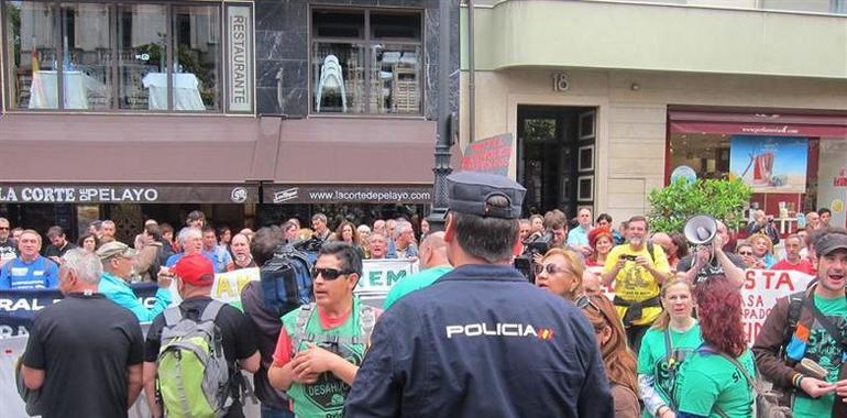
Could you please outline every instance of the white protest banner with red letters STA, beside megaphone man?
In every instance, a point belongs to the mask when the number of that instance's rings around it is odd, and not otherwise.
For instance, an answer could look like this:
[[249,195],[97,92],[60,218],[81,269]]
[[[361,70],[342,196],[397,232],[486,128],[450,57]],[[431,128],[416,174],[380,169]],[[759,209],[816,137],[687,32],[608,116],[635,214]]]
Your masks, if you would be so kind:
[[765,319],[777,305],[777,299],[803,292],[814,279],[805,273],[794,271],[747,270],[741,287],[741,322],[747,334],[747,344],[752,345],[759,336]]

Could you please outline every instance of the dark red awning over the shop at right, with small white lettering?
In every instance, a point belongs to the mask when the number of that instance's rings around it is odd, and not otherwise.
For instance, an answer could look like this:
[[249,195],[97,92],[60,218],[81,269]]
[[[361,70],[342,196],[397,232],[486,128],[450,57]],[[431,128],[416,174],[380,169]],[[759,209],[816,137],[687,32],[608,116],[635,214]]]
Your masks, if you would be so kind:
[[845,114],[674,111],[671,133],[847,138]]

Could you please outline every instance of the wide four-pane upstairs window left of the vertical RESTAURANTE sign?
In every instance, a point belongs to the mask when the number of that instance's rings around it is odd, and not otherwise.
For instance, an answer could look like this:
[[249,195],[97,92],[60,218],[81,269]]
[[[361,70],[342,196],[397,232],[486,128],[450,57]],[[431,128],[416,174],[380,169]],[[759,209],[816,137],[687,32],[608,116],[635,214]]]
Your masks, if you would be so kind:
[[12,109],[221,111],[220,6],[0,2]]

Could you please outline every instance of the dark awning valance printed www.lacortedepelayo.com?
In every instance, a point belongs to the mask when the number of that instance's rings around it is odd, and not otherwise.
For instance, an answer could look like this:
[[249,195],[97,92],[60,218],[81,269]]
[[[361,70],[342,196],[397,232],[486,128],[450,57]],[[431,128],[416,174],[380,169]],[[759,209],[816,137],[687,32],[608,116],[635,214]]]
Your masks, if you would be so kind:
[[295,185],[262,187],[265,204],[430,204],[431,185]]

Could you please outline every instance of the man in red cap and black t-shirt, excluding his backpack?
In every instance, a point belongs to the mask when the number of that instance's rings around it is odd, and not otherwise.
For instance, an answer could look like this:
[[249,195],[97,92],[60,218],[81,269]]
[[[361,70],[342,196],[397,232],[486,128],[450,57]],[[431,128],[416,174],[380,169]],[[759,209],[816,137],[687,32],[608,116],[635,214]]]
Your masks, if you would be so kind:
[[[202,254],[188,254],[180,258],[170,272],[164,271],[160,274],[174,274],[176,276],[177,290],[183,302],[176,308],[168,308],[153,320],[144,343],[144,393],[153,417],[163,416],[162,405],[156,402],[156,376],[158,374],[160,348],[163,344],[163,329],[166,327],[165,317],[169,315],[172,309],[178,309],[180,318],[189,318],[200,322],[204,311],[212,302],[209,295],[215,283],[215,267],[211,261]],[[248,317],[232,306],[223,305],[215,316],[215,326],[220,331],[218,336],[221,337],[223,354],[230,365],[230,382],[235,382],[234,380],[239,378],[238,367],[255,373],[258,370],[261,358],[256,348],[254,328]],[[173,374],[173,371],[168,372]],[[232,394],[232,405],[224,417],[243,417],[244,413],[238,394]]]

